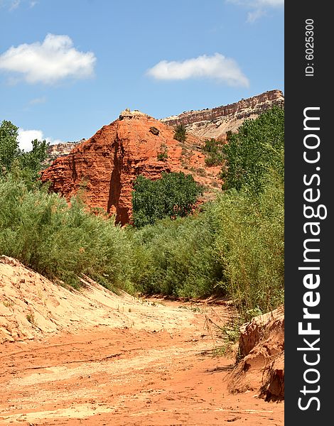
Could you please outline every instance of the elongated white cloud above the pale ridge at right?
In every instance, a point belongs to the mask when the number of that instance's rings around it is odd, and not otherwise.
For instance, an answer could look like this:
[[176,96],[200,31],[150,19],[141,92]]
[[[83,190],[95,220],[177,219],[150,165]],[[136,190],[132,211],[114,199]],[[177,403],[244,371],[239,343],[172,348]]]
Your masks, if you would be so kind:
[[156,80],[187,80],[189,78],[212,78],[229,86],[249,86],[247,77],[232,58],[220,53],[202,55],[184,61],[162,60],[147,71]]

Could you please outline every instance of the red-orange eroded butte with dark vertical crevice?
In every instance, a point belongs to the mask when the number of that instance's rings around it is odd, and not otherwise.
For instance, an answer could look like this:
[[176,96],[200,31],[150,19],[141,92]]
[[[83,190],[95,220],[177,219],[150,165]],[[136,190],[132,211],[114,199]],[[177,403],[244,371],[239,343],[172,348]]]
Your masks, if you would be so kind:
[[[204,185],[204,200],[220,190],[221,166],[206,167],[200,140],[188,135],[186,143],[174,131],[140,111],[125,110],[119,119],[97,131],[65,157],[43,170],[41,180],[69,201],[78,190],[88,207],[116,215],[116,222],[131,219],[131,192],[137,175],[152,180],[163,171],[191,173]],[[161,160],[161,153],[164,160]]]

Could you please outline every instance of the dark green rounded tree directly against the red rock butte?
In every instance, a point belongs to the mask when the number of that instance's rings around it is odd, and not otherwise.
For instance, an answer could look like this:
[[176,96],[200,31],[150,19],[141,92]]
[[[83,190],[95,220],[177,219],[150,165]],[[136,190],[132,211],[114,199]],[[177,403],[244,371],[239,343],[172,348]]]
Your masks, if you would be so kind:
[[134,226],[153,224],[164,217],[184,217],[192,211],[199,194],[200,187],[192,175],[162,173],[158,180],[139,175],[132,192]]

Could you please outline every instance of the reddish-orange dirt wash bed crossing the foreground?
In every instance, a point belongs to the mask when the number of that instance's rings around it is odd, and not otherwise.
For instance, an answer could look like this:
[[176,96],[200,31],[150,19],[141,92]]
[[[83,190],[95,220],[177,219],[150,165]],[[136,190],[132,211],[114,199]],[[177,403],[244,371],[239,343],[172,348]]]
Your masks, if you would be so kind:
[[[179,307],[190,310],[169,302]],[[284,425],[284,403],[227,392],[234,360],[212,356],[222,342],[208,310],[191,309],[192,327],[170,332],[95,326],[5,342],[0,425]],[[228,316],[223,306],[210,312]]]

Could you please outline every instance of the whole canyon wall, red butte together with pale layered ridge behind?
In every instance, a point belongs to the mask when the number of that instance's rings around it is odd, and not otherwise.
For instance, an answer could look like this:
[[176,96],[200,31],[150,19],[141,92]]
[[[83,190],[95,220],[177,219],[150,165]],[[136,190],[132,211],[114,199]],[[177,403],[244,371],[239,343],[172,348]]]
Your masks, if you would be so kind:
[[[81,190],[88,207],[114,214],[122,225],[131,222],[131,193],[138,175],[154,180],[164,171],[190,173],[203,185],[200,202],[212,200],[221,190],[221,165],[205,164],[203,141],[225,140],[227,131],[237,131],[245,119],[274,105],[284,106],[279,90],[161,120],[126,109],[87,141],[50,146],[50,160],[58,158],[43,170],[41,180],[50,181],[50,190],[68,201]],[[173,138],[178,124],[187,129],[183,143]]]

